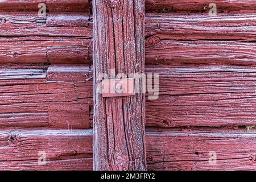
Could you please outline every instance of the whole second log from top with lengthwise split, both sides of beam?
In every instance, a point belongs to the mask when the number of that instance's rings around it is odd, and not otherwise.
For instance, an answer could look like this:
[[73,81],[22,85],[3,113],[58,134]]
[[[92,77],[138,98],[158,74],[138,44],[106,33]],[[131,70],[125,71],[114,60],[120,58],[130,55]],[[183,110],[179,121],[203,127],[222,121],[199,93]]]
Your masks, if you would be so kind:
[[[147,14],[146,64],[254,64],[255,19],[254,14],[217,17]],[[92,62],[92,23],[88,16],[69,15],[65,19],[64,15],[51,15],[47,16],[46,23],[36,23],[36,20],[39,20],[36,16],[26,15],[0,25],[2,36],[14,37],[0,39],[1,63]],[[83,26],[77,27],[80,23]],[[216,42],[207,41],[209,39]]]

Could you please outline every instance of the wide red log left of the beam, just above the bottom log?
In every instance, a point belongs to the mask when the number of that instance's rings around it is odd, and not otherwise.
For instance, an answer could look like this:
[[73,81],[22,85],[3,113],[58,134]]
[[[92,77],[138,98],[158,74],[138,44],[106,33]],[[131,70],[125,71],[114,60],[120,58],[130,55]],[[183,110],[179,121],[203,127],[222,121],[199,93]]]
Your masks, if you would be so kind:
[[[1,128],[76,129],[89,127],[89,108],[86,105],[92,105],[92,83],[88,83],[86,78],[76,81],[76,78],[72,78],[74,76],[72,73],[69,74],[69,81],[58,81],[61,79],[57,77],[52,77],[51,81],[47,81],[47,68],[48,66],[43,65],[1,65]],[[86,70],[89,68],[85,69],[85,72]],[[90,86],[87,86],[88,84]],[[59,110],[57,108],[60,104],[67,107]],[[60,112],[48,115],[55,107]],[[79,110],[70,113],[71,107],[79,108]],[[53,120],[55,122],[52,122]]]

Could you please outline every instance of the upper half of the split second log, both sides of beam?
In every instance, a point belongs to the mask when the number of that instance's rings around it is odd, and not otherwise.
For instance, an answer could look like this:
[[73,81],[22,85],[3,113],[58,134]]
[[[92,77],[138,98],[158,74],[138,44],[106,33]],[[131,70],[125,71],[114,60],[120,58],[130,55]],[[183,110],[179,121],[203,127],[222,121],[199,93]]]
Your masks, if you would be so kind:
[[[1,36],[44,36],[92,38],[92,22],[83,14],[3,14]],[[146,38],[165,35],[180,40],[255,40],[255,14],[146,14]],[[239,25],[239,27],[237,26]],[[152,41],[152,40],[151,40]]]

